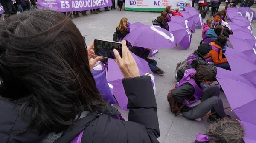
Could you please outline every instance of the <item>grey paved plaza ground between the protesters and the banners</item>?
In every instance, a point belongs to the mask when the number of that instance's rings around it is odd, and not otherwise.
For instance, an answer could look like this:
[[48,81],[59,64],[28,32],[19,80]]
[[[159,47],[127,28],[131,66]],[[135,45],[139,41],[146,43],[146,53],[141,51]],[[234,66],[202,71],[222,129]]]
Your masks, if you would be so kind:
[[[222,3],[220,10],[224,9]],[[254,11],[256,8],[252,8]],[[151,25],[152,20],[156,19],[160,13],[153,12],[132,12],[132,11],[103,11],[100,14],[89,14],[88,16],[79,17],[73,19],[73,22],[81,31],[81,34],[86,38],[86,44],[89,45],[93,39],[105,39],[113,40],[113,33],[116,31],[116,27],[122,17],[127,17],[129,22],[141,22],[145,25]],[[207,15],[208,17],[208,15]],[[206,19],[204,19],[205,21]],[[252,23],[253,24],[253,23]],[[256,30],[256,25],[253,25]],[[156,101],[157,101],[157,114],[160,126],[160,143],[191,143],[195,140],[195,135],[198,133],[204,133],[209,128],[210,123],[207,118],[201,119],[201,121],[189,120],[181,115],[175,117],[170,112],[169,104],[167,102],[167,93],[172,89],[172,85],[175,83],[174,71],[177,62],[184,60],[184,57],[189,56],[195,51],[202,40],[202,29],[196,28],[195,33],[192,33],[192,43],[190,48],[184,50],[178,46],[176,48],[161,49],[157,53],[157,57],[153,57],[157,60],[157,66],[162,68],[166,74],[164,76],[156,76]],[[256,35],[256,32],[253,32]],[[146,41],[145,41],[146,42]],[[236,90],[236,89],[234,89]],[[228,107],[229,103],[224,93],[221,92],[221,99],[224,102],[224,107]],[[116,105],[118,106],[118,105]],[[127,119],[128,111],[121,111],[122,116]],[[230,110],[226,109],[226,113],[236,118],[236,115]]]

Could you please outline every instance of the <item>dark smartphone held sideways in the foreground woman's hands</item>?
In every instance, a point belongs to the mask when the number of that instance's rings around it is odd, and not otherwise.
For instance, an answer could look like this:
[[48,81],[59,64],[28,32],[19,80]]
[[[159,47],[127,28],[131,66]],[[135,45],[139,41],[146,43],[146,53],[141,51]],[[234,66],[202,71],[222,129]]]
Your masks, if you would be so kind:
[[116,59],[113,50],[116,49],[122,58],[122,43],[108,40],[95,39],[94,53],[96,56],[102,56],[109,59]]

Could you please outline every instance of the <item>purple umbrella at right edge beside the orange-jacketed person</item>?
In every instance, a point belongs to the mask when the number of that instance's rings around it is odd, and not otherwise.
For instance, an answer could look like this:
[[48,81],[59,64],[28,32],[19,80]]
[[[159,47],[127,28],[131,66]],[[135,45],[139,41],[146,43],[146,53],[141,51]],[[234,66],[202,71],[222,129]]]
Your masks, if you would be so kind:
[[[231,71],[244,77],[256,88],[256,65],[246,55],[227,48],[225,56],[230,65]],[[256,56],[256,55],[255,55]],[[255,94],[256,95],[256,94]]]

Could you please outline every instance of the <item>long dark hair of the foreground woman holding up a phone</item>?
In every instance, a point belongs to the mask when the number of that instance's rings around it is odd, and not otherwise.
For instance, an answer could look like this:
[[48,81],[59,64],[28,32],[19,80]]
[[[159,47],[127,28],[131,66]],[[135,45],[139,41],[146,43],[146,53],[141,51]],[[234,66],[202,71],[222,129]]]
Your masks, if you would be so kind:
[[90,71],[76,25],[52,10],[24,11],[0,23],[0,98],[19,104],[20,116],[41,132],[61,132],[81,112],[107,106]]

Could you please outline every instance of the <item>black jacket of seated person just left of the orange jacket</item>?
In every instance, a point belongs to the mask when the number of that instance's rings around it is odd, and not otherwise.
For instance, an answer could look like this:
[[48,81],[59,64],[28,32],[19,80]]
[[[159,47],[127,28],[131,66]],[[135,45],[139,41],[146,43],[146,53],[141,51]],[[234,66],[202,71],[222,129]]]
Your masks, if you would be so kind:
[[188,68],[196,68],[198,65],[204,65],[206,67],[212,68],[215,71],[217,71],[216,67],[212,64],[209,64],[208,62],[205,61],[204,56],[202,56],[200,53],[198,53],[197,50],[195,50],[194,52],[195,56],[198,56],[198,58],[196,58],[190,65]]

